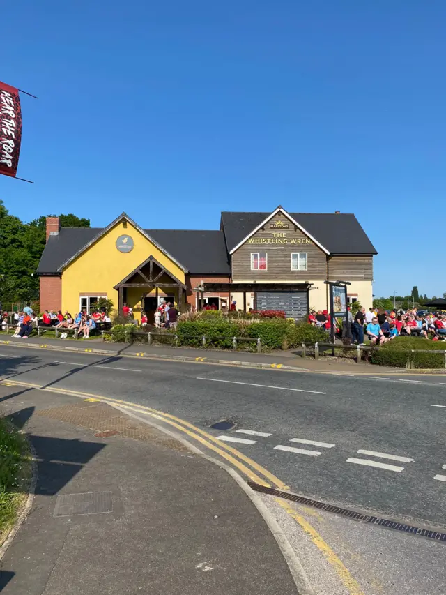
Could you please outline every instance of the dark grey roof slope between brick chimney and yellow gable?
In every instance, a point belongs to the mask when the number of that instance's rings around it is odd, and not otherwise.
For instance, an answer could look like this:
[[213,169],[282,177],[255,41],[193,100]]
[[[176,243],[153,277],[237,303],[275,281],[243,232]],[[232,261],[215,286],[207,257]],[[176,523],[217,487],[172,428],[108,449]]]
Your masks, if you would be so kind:
[[102,232],[100,227],[62,227],[59,234],[49,236],[37,272],[56,273],[59,266]]

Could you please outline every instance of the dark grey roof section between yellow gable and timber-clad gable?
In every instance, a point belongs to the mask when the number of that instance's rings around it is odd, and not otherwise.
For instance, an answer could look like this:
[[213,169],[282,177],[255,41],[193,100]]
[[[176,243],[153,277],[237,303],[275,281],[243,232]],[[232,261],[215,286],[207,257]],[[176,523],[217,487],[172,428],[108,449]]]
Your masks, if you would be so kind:
[[149,236],[182,262],[189,273],[231,273],[223,232],[198,229],[146,229]]

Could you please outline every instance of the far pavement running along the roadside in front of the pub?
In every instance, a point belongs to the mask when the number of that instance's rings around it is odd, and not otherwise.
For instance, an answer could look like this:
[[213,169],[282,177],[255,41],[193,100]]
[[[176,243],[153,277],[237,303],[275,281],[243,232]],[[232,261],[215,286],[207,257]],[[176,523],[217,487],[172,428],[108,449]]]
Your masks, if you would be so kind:
[[[355,363],[341,361],[338,358],[321,355],[318,360],[312,356],[302,358],[296,349],[288,349],[272,353],[249,353],[232,351],[229,349],[194,349],[192,347],[174,347],[169,345],[132,345],[128,343],[112,343],[102,341],[101,338],[88,341],[45,339],[32,337],[25,341],[17,338],[3,336],[1,344],[25,346],[38,349],[62,349],[63,351],[89,352],[108,355],[151,357],[157,359],[172,359],[177,361],[196,361],[197,359],[210,363],[226,365],[247,366],[254,368],[279,367],[283,369],[312,370],[314,372],[340,372],[349,374],[376,374],[386,373],[400,375],[417,375],[421,370],[406,370],[405,368],[388,368],[385,366],[372,366],[368,363]],[[422,372],[421,372],[422,373]],[[439,376],[446,375],[446,370],[436,370]]]

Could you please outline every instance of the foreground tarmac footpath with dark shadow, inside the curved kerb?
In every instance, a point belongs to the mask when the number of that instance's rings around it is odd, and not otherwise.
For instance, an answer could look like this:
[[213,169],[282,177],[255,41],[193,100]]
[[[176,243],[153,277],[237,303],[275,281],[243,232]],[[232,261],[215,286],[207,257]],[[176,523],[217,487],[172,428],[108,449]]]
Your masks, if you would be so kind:
[[4,595],[297,594],[224,469],[110,405],[6,390],[0,410],[29,435],[38,481],[1,560]]

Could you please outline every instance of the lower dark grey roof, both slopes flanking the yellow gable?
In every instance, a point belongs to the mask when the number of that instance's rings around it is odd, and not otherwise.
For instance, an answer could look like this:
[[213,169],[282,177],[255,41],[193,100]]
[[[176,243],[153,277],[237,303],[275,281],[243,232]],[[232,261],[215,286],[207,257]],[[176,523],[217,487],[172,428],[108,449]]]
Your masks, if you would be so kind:
[[[223,232],[196,229],[145,229],[145,231],[178,262],[184,264],[190,273],[228,275],[231,271]],[[98,227],[62,227],[59,235],[49,236],[37,272],[56,273],[61,264],[75,255],[100,232],[102,228]]]

